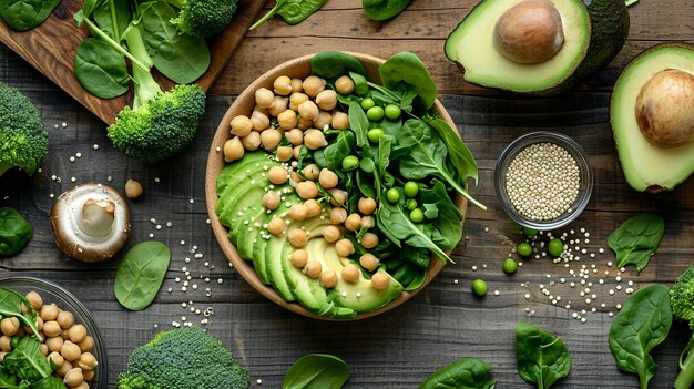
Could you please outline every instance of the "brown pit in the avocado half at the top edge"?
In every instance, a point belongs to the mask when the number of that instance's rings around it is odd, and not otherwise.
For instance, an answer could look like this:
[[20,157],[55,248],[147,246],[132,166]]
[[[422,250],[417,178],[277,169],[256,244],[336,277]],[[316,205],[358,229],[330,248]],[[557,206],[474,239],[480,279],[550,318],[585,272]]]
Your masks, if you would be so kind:
[[561,14],[549,1],[522,1],[497,20],[493,43],[501,55],[513,62],[548,61],[564,43]]

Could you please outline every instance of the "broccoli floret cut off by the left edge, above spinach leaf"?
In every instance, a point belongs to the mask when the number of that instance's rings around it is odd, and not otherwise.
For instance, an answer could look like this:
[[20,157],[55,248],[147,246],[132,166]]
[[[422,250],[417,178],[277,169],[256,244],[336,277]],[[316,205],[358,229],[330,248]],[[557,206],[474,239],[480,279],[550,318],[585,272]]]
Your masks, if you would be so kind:
[[35,173],[48,154],[48,131],[39,110],[0,82],[0,176],[12,167]]

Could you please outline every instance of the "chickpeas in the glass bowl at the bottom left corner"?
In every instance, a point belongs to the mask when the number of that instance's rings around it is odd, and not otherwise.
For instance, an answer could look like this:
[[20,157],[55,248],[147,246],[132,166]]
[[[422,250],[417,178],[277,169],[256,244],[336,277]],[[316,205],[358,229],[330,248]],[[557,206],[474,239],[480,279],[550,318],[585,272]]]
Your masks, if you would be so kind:
[[[86,332],[86,327],[74,321],[71,311],[55,304],[43,304],[41,295],[35,291],[29,291],[27,299],[38,314],[37,328],[43,339],[39,350],[49,364],[51,360],[55,364],[54,375],[70,389],[89,389],[88,381],[94,378],[99,365],[91,352],[94,338]],[[29,308],[22,305],[22,310],[28,313]],[[31,328],[21,326],[17,317],[0,320],[0,360],[12,350],[13,338],[32,334]]]

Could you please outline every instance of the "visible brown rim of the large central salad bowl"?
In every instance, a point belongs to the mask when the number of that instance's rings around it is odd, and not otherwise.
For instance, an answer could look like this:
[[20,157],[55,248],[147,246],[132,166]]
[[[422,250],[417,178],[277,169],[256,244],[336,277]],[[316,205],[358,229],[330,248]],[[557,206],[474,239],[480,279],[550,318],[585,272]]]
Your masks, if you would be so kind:
[[[369,55],[369,54],[363,54],[363,53],[349,52],[349,51],[344,51],[344,52],[355,57],[356,59],[365,63],[367,68],[369,68],[368,65],[369,63],[374,66],[378,66],[385,62],[384,59]],[[359,320],[359,319],[365,319],[365,318],[380,315],[409,300],[412,296],[417,295],[421,289],[423,289],[433,279],[433,277],[438,275],[438,273],[443,268],[446,264],[439,260],[438,258],[436,258],[435,256],[432,256],[432,260],[430,262],[429,268],[427,269],[427,276],[425,278],[425,281],[421,284],[421,286],[419,286],[417,289],[414,289],[414,290],[404,290],[400,294],[400,296],[398,296],[396,299],[391,300],[390,303],[386,304],[385,306],[378,309],[357,314],[356,317],[353,319],[336,319],[336,318],[329,318],[329,317],[322,317],[322,316],[317,316],[308,311],[306,308],[304,308],[300,304],[296,301],[294,303],[285,301],[275,291],[275,289],[272,286],[263,284],[259,280],[257,274],[255,273],[255,269],[249,264],[249,262],[246,259],[243,259],[236,252],[236,248],[234,247],[234,245],[228,240],[228,237],[227,237],[228,231],[220,223],[217,215],[215,213],[215,207],[217,205],[217,199],[218,199],[216,195],[216,178],[222,167],[225,164],[223,154],[218,151],[217,147],[222,147],[224,142],[231,137],[227,123],[232,119],[232,113],[234,113],[235,110],[238,110],[238,106],[242,104],[242,102],[249,99],[251,95],[254,95],[257,89],[262,86],[267,88],[267,85],[271,85],[272,88],[272,80],[274,80],[278,75],[284,74],[283,73],[284,70],[295,66],[295,65],[306,64],[315,54],[316,53],[302,55],[302,57],[292,59],[289,61],[283,62],[272,68],[271,70],[266,71],[261,76],[256,78],[256,80],[253,83],[251,83],[246,89],[244,89],[244,91],[234,100],[234,102],[227,109],[226,113],[224,114],[224,117],[220,121],[220,125],[217,126],[217,130],[215,131],[214,137],[211,142],[210,153],[207,155],[207,165],[206,165],[206,171],[205,171],[206,207],[207,207],[207,214],[210,217],[210,222],[211,222],[210,224],[212,226],[213,233],[216,237],[216,240],[220,247],[222,248],[222,252],[224,252],[224,255],[226,256],[227,260],[232,264],[232,266],[236,269],[236,272],[242,276],[242,278],[244,278],[254,289],[259,291],[263,296],[265,296],[271,301],[279,305],[280,307],[285,309],[288,309],[295,314],[299,314],[309,318],[320,319],[320,320],[326,320],[326,321]],[[376,81],[380,82],[379,80],[376,80]],[[448,124],[451,125],[451,127],[457,130],[455,122],[452,121],[451,116],[449,115],[443,104],[441,104],[439,99],[436,99],[433,108],[435,108],[435,111],[439,113],[440,119],[445,120]],[[456,132],[460,136],[460,132],[458,131]],[[462,217],[461,223],[465,223],[465,216],[466,216],[468,202],[465,197],[458,195],[456,196],[455,203],[460,209],[460,212],[462,213],[463,217]]]

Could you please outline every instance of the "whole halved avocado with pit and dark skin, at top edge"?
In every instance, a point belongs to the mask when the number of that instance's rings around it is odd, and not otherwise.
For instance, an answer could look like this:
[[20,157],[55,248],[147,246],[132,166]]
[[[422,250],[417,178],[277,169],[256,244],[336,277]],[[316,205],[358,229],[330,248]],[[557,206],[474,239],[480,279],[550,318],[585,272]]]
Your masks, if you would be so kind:
[[[624,0],[584,2],[482,0],[446,40],[446,57],[466,81],[481,86],[563,92],[610,62],[629,33]],[[551,17],[555,12],[560,22]],[[538,47],[547,47],[545,55],[534,55]]]

